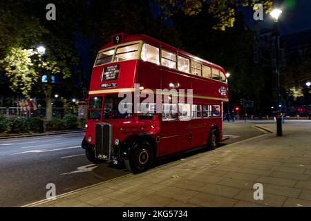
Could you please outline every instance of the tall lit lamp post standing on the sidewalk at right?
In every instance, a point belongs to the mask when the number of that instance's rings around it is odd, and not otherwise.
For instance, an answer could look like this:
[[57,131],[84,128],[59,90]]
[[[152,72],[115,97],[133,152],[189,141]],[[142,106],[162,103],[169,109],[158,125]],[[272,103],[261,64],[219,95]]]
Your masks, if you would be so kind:
[[282,10],[279,8],[276,8],[270,12],[271,17],[274,19],[274,26],[273,26],[273,32],[272,35],[274,35],[275,41],[274,41],[274,48],[276,50],[276,95],[277,95],[277,107],[278,107],[278,114],[276,116],[276,135],[282,136],[282,119],[281,119],[281,102],[280,102],[280,68],[279,68],[279,47],[280,47],[280,32],[279,32],[279,16],[281,15]]

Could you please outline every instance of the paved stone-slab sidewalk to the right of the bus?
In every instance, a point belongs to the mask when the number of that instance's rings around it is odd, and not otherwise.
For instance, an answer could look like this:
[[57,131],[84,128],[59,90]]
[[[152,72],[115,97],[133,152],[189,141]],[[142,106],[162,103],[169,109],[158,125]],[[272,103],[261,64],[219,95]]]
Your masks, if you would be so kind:
[[[283,125],[283,137],[263,134],[32,206],[311,206],[310,175],[310,124]],[[254,200],[255,183],[263,200]]]

